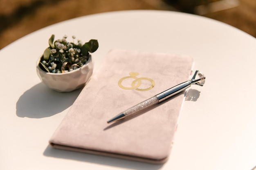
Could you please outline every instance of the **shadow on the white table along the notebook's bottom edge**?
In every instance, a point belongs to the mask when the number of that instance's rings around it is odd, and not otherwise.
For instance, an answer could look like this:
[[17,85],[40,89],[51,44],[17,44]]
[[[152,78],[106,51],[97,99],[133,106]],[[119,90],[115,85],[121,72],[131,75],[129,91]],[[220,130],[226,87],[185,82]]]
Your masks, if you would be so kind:
[[92,155],[87,153],[79,153],[67,150],[54,149],[50,145],[47,146],[43,153],[46,157],[56,157],[63,159],[72,159],[76,161],[97,163],[101,165],[128,168],[134,170],[159,170],[164,164],[142,163],[137,161],[128,161],[112,157]]

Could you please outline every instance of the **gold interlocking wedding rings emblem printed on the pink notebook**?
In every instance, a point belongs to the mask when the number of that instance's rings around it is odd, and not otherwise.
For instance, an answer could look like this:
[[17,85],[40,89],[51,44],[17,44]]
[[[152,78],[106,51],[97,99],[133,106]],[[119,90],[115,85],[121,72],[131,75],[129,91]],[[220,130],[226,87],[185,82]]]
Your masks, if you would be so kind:
[[[123,78],[121,78],[121,79],[118,81],[118,85],[119,85],[119,87],[121,87],[122,89],[127,89],[127,90],[135,89],[135,90],[138,90],[138,91],[147,91],[147,90],[152,89],[152,88],[155,86],[155,81],[153,81],[151,78],[146,78],[146,77],[138,78],[138,77],[136,77],[137,75],[139,75],[139,73],[137,73],[137,72],[130,72],[129,74],[130,74],[130,76],[123,77]],[[133,78],[133,79],[135,79],[134,81],[132,81],[131,87],[124,87],[124,86],[122,85],[122,81],[124,81],[124,80],[127,79],[127,78]],[[148,88],[146,88],[146,89],[139,89],[138,87],[141,85],[141,80],[150,81],[150,82],[151,82],[150,87],[148,87]]]

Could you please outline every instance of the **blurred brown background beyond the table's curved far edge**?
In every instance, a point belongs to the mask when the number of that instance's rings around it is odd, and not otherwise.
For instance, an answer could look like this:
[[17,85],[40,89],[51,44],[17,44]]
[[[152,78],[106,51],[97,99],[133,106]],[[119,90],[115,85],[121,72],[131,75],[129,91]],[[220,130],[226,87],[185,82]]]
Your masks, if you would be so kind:
[[33,31],[74,17],[137,9],[202,15],[256,37],[256,0],[0,0],[0,49]]

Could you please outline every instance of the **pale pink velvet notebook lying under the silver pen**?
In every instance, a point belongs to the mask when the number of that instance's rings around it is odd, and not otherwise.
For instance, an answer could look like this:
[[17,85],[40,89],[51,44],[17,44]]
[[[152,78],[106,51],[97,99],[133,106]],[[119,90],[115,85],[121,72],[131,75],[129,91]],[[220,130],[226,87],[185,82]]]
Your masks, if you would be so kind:
[[171,152],[184,92],[136,116],[122,111],[189,79],[189,56],[110,50],[52,135],[54,148],[150,163]]

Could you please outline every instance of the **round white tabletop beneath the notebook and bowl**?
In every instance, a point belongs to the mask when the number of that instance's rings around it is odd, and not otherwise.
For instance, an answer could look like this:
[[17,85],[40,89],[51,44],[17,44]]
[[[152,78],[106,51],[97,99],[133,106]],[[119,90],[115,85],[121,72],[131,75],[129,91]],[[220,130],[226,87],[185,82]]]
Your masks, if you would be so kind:
[[[205,74],[206,83],[188,91],[199,97],[184,102],[167,163],[151,165],[48,146],[79,94],[54,92],[36,75],[34,63],[52,34],[98,39],[96,68],[112,48],[194,58],[194,68]],[[2,62],[11,63],[1,69],[0,169],[251,170],[256,166],[255,56],[254,37],[205,17],[168,11],[102,13],[31,33],[0,50]]]

